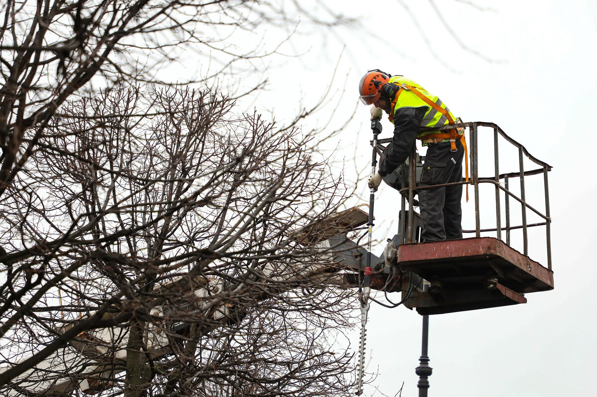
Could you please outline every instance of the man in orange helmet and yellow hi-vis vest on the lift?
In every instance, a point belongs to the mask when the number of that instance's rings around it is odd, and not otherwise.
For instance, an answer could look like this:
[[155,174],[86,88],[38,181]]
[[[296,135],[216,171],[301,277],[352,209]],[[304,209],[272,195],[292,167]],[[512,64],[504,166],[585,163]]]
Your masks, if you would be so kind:
[[[382,178],[405,162],[415,139],[427,147],[420,187],[462,181],[464,129],[436,131],[460,122],[438,97],[407,77],[392,76],[378,69],[362,77],[359,92],[364,104],[373,105],[372,121],[381,118],[383,110],[394,125],[392,143],[380,161],[378,172],[370,179],[370,187],[377,190]],[[462,238],[462,185],[417,192],[423,242]]]

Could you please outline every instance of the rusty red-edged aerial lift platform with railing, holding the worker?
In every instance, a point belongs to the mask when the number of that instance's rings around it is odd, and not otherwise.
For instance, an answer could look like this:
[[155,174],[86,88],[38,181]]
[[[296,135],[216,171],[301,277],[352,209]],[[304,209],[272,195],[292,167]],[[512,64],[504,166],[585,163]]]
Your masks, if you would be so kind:
[[[465,235],[473,235],[472,237],[429,243],[418,242],[422,222],[415,210],[418,203],[414,197],[416,191],[421,189],[416,187],[416,181],[420,178],[422,164],[420,156],[414,151],[410,157],[413,160],[407,160],[407,163],[394,173],[384,177],[386,184],[400,191],[402,206],[399,212],[398,234],[391,241],[389,240],[382,258],[372,256],[371,288],[387,293],[401,292],[401,302],[407,308],[416,309],[421,315],[516,305],[527,302],[525,297],[527,293],[553,289],[547,185],[547,172],[551,167],[531,156],[524,146],[508,137],[493,123],[460,123],[457,127],[469,129],[470,185],[474,190],[475,228],[463,232]],[[485,178],[479,177],[478,131],[480,127],[493,130],[490,141],[493,141],[494,175]],[[505,140],[518,151],[518,169],[513,172],[500,173],[498,159],[500,139]],[[384,144],[389,142],[391,139],[378,141],[377,150],[381,156],[387,148]],[[524,169],[525,158],[527,162],[535,165],[533,169]],[[543,177],[543,212],[531,206],[526,200],[525,188],[531,176]],[[510,189],[512,179],[519,179],[519,196]],[[466,182],[461,183],[466,184]],[[481,228],[482,207],[479,190],[483,184],[493,186],[495,191],[495,196],[491,197],[495,197],[496,200],[495,208],[491,209],[492,212],[495,210],[495,213],[490,213],[488,217],[494,222],[491,228]],[[533,188],[537,190],[535,185]],[[512,202],[518,203],[520,209],[518,216],[514,214]],[[532,213],[540,221],[528,223],[528,213]],[[503,218],[505,222],[502,221]],[[521,221],[520,225],[512,224],[515,218]],[[367,224],[367,213],[355,207],[338,213],[336,219],[330,221],[340,224],[341,227],[336,229],[343,230],[344,233],[334,236],[320,234],[320,237],[322,240],[327,238],[326,246],[337,249],[336,260],[339,263],[355,271],[344,275],[347,285],[358,287],[365,268],[366,252],[347,240],[346,232],[358,230]],[[545,237],[541,240],[546,247],[547,267],[528,255],[528,229],[531,227],[544,228]],[[522,231],[522,241],[517,241],[522,246],[522,253],[512,247],[512,231],[515,230]],[[487,236],[488,234],[493,236]],[[423,283],[429,284],[428,289],[423,289]]]

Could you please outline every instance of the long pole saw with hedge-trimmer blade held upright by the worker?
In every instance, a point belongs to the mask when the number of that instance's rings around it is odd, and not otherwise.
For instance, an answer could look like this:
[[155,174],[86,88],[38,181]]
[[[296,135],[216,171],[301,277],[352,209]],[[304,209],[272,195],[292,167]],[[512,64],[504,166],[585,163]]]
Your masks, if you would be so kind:
[[[373,154],[371,156],[371,178],[376,174],[377,166],[377,135],[381,133],[381,123],[379,117],[374,118],[371,121],[371,131],[373,132]],[[364,278],[362,284],[359,283],[359,300],[361,301],[361,340],[359,344],[359,376],[358,376],[358,387],[356,389],[356,395],[363,393],[363,375],[365,370],[365,340],[367,339],[367,314],[369,312],[369,295],[371,293],[371,241],[372,230],[373,230],[373,203],[375,200],[375,186],[369,185],[369,221],[367,226],[368,230],[368,246],[367,246],[367,265],[363,272]],[[360,272],[359,272],[360,274]]]

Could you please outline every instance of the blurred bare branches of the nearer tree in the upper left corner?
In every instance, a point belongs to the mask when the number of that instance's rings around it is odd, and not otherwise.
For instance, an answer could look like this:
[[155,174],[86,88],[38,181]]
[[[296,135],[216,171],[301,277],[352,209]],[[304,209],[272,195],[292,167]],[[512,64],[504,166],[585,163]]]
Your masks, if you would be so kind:
[[[254,41],[248,47],[240,45],[234,41],[235,32],[257,30],[262,24],[293,26],[300,10],[295,1],[284,5],[256,0],[4,2],[0,6],[0,193],[73,95],[135,81],[168,84],[159,79],[160,72],[168,64],[184,63],[189,53],[196,55],[193,61],[199,64],[186,82],[207,84],[224,70],[230,75],[233,64],[237,73],[254,71],[261,58],[276,51],[276,45]],[[328,25],[349,22],[330,10],[328,15]],[[177,78],[185,82],[184,77]]]

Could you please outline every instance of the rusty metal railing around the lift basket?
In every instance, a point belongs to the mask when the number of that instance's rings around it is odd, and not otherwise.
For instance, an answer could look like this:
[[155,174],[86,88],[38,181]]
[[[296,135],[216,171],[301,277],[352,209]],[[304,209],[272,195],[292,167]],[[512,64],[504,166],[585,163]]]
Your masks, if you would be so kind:
[[[479,177],[479,127],[486,127],[493,129],[493,174],[492,176],[488,177]],[[552,167],[541,160],[538,160],[536,157],[531,156],[528,153],[527,149],[516,142],[514,139],[510,138],[508,135],[504,133],[504,131],[494,123],[487,123],[487,122],[470,122],[470,123],[458,123],[456,125],[445,126],[441,128],[439,131],[448,130],[452,128],[466,128],[469,131],[469,136],[467,139],[468,150],[469,150],[469,159],[470,159],[470,176],[469,182],[462,181],[462,182],[454,182],[448,184],[441,184],[441,185],[432,185],[432,186],[416,186],[417,182],[417,163],[415,163],[416,151],[413,147],[413,152],[410,156],[410,162],[408,166],[404,166],[404,170],[406,172],[401,172],[402,177],[402,188],[399,189],[401,193],[401,221],[399,222],[399,234],[404,236],[404,243],[413,243],[417,242],[416,234],[418,225],[420,225],[420,218],[416,220],[417,215],[414,211],[407,211],[406,204],[408,203],[408,208],[413,208],[416,206],[416,202],[414,200],[414,194],[416,191],[425,190],[430,188],[437,188],[437,187],[447,187],[451,185],[472,185],[474,189],[474,208],[475,208],[475,229],[470,230],[463,230],[463,234],[475,234],[475,237],[481,237],[482,232],[495,232],[496,237],[500,240],[503,240],[508,246],[512,244],[512,235],[511,231],[516,229],[522,229],[522,246],[523,246],[523,253],[524,255],[528,256],[528,229],[531,227],[545,227],[545,244],[546,244],[546,255],[547,255],[547,268],[552,269],[552,252],[551,252],[551,229],[550,229],[550,212],[549,212],[549,185],[547,182],[547,172],[549,172]],[[506,142],[513,145],[516,150],[518,150],[518,170],[514,172],[508,173],[500,173],[500,151],[499,151],[499,139],[504,138]],[[384,146],[383,144],[389,144],[392,139],[380,139],[378,141],[378,151],[381,153],[383,151]],[[531,162],[536,164],[538,168],[534,168],[531,170],[524,169],[524,158],[527,157]],[[420,168],[422,165],[418,163],[418,167]],[[543,175],[543,196],[544,196],[544,213],[540,210],[536,209],[536,207],[531,206],[530,203],[527,202],[527,194],[525,191],[525,178],[533,175]],[[519,178],[520,181],[520,197],[516,196],[516,194],[512,193],[510,190],[510,179]],[[503,181],[503,184],[502,184]],[[481,227],[481,200],[479,197],[479,187],[481,184],[493,184],[495,188],[495,197],[496,197],[496,227],[490,228],[482,228]],[[502,219],[502,200],[500,191],[504,194],[504,216],[505,220]],[[518,201],[521,204],[521,224],[520,225],[513,225],[512,224],[512,205],[510,200]],[[542,221],[528,223],[527,222],[527,215],[528,212],[532,212],[537,215]],[[505,224],[504,224],[505,221]],[[505,232],[505,239],[503,233]]]

